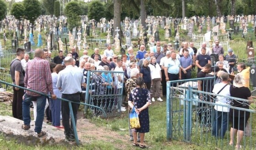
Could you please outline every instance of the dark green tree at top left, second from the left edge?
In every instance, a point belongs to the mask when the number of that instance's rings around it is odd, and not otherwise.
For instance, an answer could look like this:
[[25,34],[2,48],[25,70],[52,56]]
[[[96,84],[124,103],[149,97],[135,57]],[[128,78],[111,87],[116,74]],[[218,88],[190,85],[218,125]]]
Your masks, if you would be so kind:
[[38,0],[23,0],[25,7],[24,18],[34,24],[34,21],[41,15],[41,5]]

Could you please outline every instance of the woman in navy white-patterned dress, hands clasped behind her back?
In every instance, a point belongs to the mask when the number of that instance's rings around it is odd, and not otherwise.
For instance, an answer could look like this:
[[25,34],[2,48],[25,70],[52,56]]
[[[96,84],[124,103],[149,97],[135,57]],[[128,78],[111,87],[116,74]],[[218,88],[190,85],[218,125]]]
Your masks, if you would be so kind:
[[[142,88],[144,84],[143,78],[139,77],[136,79],[137,87],[134,88],[130,95],[128,105],[133,108],[135,107],[136,113],[139,115],[140,128],[133,129],[133,146],[140,148],[146,148],[144,144],[144,135],[149,132],[149,105],[150,105],[150,92],[148,89]],[[137,132],[140,135],[140,144],[137,142]]]

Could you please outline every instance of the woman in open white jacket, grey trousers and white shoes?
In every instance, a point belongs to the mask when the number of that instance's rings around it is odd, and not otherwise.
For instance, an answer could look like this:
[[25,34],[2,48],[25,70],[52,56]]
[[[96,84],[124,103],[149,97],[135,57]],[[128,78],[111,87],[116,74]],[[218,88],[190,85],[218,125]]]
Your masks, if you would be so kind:
[[163,101],[161,99],[161,80],[162,80],[162,73],[161,68],[158,63],[156,63],[155,57],[150,58],[150,75],[152,80],[152,101],[155,101],[154,97],[157,97],[158,101]]

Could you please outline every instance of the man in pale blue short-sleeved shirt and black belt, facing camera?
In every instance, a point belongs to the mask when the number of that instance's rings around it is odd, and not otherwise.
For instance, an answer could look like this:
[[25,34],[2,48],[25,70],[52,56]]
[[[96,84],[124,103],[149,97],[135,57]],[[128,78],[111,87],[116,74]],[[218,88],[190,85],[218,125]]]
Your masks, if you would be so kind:
[[[176,52],[171,51],[171,57],[165,61],[165,79],[166,81],[181,80],[181,64],[176,59]],[[176,87],[176,83],[171,86]]]

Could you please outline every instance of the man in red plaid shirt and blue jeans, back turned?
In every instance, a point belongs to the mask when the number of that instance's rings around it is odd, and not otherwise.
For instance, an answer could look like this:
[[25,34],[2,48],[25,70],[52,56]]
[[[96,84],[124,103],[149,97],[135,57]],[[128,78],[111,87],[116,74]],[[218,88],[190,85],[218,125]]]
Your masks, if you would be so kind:
[[[41,49],[35,50],[35,58],[27,63],[27,69],[24,79],[24,84],[27,89],[35,90],[44,94],[50,93],[52,99],[56,99],[56,95],[53,94],[53,83],[50,65],[47,60],[44,59],[44,52]],[[22,129],[30,129],[30,103],[31,101],[37,101],[37,119],[35,122],[35,132],[38,137],[46,135],[46,132],[42,131],[44,107],[46,104],[46,96],[40,95],[31,91],[26,91],[23,96],[22,103],[22,115],[24,125]]]

